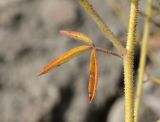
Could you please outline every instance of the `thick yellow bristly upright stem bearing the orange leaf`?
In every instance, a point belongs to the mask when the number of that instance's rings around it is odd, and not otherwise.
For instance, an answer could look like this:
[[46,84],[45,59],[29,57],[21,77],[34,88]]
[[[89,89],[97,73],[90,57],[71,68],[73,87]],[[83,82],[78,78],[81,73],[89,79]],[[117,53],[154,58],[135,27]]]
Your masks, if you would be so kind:
[[124,57],[124,85],[125,85],[125,122],[134,121],[134,52],[135,52],[135,35],[136,22],[138,14],[138,0],[131,0],[130,20],[127,39],[127,54]]

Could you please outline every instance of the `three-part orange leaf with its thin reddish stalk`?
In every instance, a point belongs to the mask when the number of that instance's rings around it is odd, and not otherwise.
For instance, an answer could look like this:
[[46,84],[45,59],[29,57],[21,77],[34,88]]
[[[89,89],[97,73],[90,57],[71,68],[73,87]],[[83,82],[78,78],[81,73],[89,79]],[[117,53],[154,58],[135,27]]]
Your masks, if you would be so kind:
[[38,76],[43,75],[45,73],[48,73],[52,69],[60,66],[61,64],[69,61],[70,59],[72,59],[72,58],[74,58],[74,57],[76,57],[86,51],[91,50],[90,66],[89,66],[90,77],[89,77],[89,86],[88,86],[88,93],[89,93],[88,101],[89,101],[89,103],[91,103],[94,96],[95,96],[97,85],[98,85],[99,71],[98,71],[98,58],[97,58],[96,52],[99,51],[99,52],[103,52],[103,53],[110,54],[110,55],[117,56],[117,57],[121,57],[121,55],[118,53],[103,49],[103,48],[96,47],[91,38],[89,38],[87,35],[82,34],[80,32],[60,31],[60,33],[66,35],[66,36],[69,36],[70,38],[73,38],[75,40],[81,41],[84,43],[84,45],[73,48],[73,49],[69,50],[68,52],[55,58],[53,61],[51,61],[47,66],[45,66],[38,73]]

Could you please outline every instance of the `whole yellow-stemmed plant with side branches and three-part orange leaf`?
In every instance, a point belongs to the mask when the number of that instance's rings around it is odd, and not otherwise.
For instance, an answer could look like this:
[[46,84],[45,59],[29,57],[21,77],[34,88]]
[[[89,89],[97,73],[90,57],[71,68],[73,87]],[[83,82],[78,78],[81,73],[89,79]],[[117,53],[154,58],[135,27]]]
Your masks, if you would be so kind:
[[[81,6],[84,8],[85,12],[88,13],[90,17],[94,20],[94,22],[97,24],[97,26],[103,33],[104,37],[108,39],[119,52],[112,52],[107,49],[96,47],[93,40],[83,33],[74,31],[60,31],[61,34],[66,35],[72,39],[81,41],[84,43],[84,45],[71,49],[68,52],[64,53],[63,55],[60,55],[59,57],[55,58],[47,66],[45,66],[38,73],[38,75],[40,76],[45,73],[48,73],[52,69],[69,61],[71,58],[74,58],[84,52],[91,51],[90,66],[89,66],[90,77],[88,85],[88,91],[89,91],[88,101],[89,103],[91,103],[95,97],[98,85],[99,69],[98,69],[97,52],[103,52],[107,55],[113,55],[119,57],[123,60],[123,67],[124,67],[124,108],[125,108],[124,119],[125,122],[138,122],[140,102],[143,91],[142,88],[143,88],[144,72],[146,67],[146,57],[148,50],[147,41],[150,33],[150,23],[152,22],[154,25],[159,27],[159,23],[157,23],[152,18],[153,0],[146,0],[147,2],[146,13],[143,13],[138,9],[139,0],[130,0],[130,17],[127,26],[128,36],[127,36],[126,46],[123,46],[121,44],[120,39],[116,35],[114,35],[109,26],[106,23],[104,23],[104,21],[96,12],[94,7],[89,3],[89,0],[79,0],[79,2]],[[143,15],[143,17],[145,17],[145,25],[144,25],[144,33],[141,45],[138,80],[135,90],[134,53],[137,44],[136,42],[139,41],[140,39],[138,38],[139,35],[136,31],[137,18],[139,15]],[[150,77],[149,80],[157,84],[160,83],[160,80],[154,77]]]

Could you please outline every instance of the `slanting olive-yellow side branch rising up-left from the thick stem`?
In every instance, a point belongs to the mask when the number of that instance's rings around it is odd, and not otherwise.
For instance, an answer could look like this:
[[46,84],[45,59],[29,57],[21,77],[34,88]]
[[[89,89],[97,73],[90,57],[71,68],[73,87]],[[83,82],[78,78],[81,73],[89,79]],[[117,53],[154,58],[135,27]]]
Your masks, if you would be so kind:
[[85,9],[85,11],[94,19],[96,24],[99,26],[104,36],[109,39],[113,45],[124,54],[126,52],[125,48],[120,43],[119,39],[113,34],[113,32],[109,29],[109,27],[103,22],[98,13],[94,10],[92,5],[88,2],[88,0],[80,0],[81,5]]

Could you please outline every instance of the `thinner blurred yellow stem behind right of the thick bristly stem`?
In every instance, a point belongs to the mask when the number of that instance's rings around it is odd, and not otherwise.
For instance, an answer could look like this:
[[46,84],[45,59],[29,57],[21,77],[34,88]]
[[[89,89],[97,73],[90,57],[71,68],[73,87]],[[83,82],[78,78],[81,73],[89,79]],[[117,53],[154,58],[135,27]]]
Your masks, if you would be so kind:
[[139,70],[138,70],[138,81],[137,81],[135,109],[134,109],[135,122],[138,122],[139,106],[140,106],[140,101],[142,96],[144,69],[146,65],[146,54],[147,54],[147,40],[150,32],[150,18],[152,14],[152,0],[147,0],[146,12],[147,12],[147,16],[145,18],[144,33],[143,33],[142,45],[141,45],[141,55],[140,55],[140,64],[139,64]]

